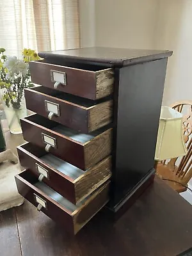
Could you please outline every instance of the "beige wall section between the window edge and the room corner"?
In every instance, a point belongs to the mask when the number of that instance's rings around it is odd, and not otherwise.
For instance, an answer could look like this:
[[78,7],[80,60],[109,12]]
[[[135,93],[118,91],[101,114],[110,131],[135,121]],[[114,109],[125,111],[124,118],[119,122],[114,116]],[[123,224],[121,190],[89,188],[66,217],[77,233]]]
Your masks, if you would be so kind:
[[156,0],[96,0],[95,45],[152,48],[156,10]]

